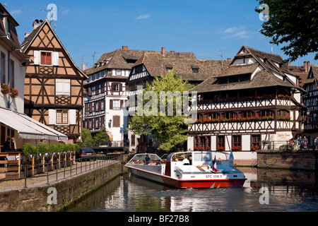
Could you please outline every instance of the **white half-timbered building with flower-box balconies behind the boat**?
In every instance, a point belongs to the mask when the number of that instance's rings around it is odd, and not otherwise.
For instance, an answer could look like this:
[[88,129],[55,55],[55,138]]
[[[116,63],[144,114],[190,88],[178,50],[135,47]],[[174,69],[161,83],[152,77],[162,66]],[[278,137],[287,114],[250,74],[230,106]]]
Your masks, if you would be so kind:
[[286,145],[302,132],[305,91],[276,54],[243,46],[225,71],[189,91],[198,93],[190,106],[197,112],[192,150],[256,150],[262,141]]

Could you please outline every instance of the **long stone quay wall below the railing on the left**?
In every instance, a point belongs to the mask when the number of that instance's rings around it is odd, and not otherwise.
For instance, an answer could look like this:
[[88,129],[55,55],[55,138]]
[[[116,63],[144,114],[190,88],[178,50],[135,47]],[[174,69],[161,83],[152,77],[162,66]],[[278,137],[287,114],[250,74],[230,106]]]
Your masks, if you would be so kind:
[[[122,161],[119,161],[52,184],[0,192],[0,212],[61,211],[121,173]],[[55,190],[56,204],[52,204],[53,196],[49,197],[53,194],[52,188]]]

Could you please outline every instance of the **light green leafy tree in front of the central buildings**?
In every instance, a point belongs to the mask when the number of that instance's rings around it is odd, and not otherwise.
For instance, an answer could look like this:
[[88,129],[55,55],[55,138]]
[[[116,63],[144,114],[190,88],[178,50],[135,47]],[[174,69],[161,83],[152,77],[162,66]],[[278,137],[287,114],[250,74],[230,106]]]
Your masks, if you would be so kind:
[[[190,88],[192,85],[182,81],[173,70],[166,76],[155,77],[152,85],[146,84],[142,97],[138,96],[139,101],[143,100],[143,108],[138,107],[129,130],[136,134],[153,136],[159,150],[176,151],[177,145],[187,140],[187,124],[184,124],[187,116],[179,109],[183,106],[183,92]],[[181,98],[172,96],[176,93]]]

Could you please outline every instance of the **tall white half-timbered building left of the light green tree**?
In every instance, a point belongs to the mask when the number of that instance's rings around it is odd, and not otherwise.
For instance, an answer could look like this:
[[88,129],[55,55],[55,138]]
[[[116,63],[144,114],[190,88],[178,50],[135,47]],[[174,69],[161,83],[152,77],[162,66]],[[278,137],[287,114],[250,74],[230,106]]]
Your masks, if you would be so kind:
[[[122,145],[127,136],[127,112],[124,103],[128,100],[126,80],[134,63],[146,50],[116,49],[106,52],[86,72],[84,128],[93,133],[106,129],[114,145]],[[125,139],[126,140],[126,139]]]

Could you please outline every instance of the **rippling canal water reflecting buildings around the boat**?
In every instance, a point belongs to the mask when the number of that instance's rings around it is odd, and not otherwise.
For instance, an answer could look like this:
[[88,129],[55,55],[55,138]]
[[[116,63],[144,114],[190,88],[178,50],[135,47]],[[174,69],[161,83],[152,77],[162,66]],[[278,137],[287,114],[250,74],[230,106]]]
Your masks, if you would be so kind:
[[105,184],[68,212],[317,212],[314,172],[238,168],[242,188],[174,189],[129,172]]

